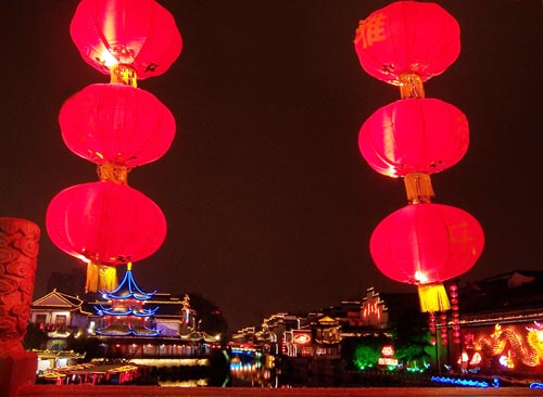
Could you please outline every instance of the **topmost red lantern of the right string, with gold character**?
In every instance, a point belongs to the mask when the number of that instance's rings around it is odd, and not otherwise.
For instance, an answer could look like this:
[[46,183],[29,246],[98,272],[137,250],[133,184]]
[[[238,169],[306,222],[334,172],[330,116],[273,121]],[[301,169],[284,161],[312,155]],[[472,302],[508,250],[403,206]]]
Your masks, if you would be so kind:
[[426,81],[443,73],[458,57],[459,35],[456,20],[437,3],[399,1],[361,21],[354,43],[369,75],[399,86],[402,75]]

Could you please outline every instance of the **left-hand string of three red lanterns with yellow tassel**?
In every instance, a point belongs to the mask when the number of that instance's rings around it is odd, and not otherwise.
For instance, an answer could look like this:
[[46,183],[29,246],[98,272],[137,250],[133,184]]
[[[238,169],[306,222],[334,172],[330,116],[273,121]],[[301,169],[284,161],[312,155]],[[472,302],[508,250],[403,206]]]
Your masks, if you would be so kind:
[[99,182],[67,188],[47,210],[51,241],[88,262],[87,291],[113,289],[114,266],[141,260],[164,242],[160,207],[127,185],[131,168],[169,149],[175,119],[137,79],[167,71],[181,51],[172,14],[154,0],[83,0],[71,34],[88,64],[111,75],[62,106],[59,121],[67,148],[97,164]]

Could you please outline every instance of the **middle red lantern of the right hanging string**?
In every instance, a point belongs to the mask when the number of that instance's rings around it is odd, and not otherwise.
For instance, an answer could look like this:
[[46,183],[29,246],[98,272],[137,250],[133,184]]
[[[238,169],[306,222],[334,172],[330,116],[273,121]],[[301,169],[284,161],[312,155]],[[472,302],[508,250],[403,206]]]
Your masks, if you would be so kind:
[[459,162],[468,144],[466,116],[437,99],[405,99],[383,106],[358,135],[364,158],[389,177],[439,172]]

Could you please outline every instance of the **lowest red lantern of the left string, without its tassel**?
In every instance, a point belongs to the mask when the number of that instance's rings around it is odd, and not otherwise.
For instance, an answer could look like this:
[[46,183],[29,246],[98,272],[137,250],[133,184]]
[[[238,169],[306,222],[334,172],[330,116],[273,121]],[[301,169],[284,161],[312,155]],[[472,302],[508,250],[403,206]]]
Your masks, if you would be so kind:
[[166,236],[166,219],[153,201],[109,181],[61,191],[49,204],[46,225],[60,249],[110,266],[150,256]]

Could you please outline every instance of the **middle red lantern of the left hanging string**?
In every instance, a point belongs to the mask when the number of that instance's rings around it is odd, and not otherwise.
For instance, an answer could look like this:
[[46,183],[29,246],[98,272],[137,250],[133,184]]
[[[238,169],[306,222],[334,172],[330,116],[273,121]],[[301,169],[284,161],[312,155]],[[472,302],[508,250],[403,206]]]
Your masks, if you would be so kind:
[[175,136],[175,119],[152,93],[123,84],[91,85],[61,108],[62,138],[77,155],[97,164],[128,167],[162,157]]

